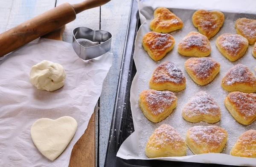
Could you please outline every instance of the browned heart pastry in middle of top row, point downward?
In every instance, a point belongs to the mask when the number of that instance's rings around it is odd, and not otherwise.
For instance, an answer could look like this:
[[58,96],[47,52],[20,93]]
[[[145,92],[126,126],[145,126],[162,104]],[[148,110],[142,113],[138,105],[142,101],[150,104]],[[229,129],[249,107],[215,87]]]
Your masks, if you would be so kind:
[[224,22],[224,14],[219,11],[198,10],[193,14],[192,22],[201,34],[210,39],[221,28]]

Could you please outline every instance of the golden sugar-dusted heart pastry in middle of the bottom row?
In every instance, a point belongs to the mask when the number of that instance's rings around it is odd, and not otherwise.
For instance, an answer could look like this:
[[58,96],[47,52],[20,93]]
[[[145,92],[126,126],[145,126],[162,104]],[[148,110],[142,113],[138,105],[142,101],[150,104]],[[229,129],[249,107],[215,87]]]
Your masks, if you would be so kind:
[[221,153],[227,142],[227,131],[218,126],[195,126],[186,134],[186,144],[194,154]]

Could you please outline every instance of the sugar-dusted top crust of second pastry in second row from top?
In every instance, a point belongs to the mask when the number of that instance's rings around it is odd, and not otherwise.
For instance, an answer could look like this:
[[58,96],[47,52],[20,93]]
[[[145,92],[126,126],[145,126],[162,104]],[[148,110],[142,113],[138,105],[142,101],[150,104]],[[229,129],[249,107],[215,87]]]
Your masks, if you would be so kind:
[[201,52],[208,52],[211,50],[210,42],[207,37],[201,35],[198,32],[190,32],[180,41],[178,46],[186,50],[192,50],[196,48]]

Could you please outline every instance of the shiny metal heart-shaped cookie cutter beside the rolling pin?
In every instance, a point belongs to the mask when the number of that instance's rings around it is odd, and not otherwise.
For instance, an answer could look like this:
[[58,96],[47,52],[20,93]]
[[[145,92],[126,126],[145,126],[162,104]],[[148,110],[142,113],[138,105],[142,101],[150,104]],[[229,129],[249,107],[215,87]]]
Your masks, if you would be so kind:
[[[87,39],[92,42],[99,42],[99,45],[84,47],[77,39]],[[83,60],[97,58],[111,49],[112,34],[104,30],[89,29],[87,27],[77,27],[73,30],[73,49]]]

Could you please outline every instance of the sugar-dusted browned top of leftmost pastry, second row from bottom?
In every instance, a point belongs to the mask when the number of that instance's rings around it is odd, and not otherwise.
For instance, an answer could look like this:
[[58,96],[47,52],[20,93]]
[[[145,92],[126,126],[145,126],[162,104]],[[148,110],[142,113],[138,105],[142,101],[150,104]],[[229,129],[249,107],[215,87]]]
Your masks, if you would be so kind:
[[170,91],[144,90],[141,95],[145,96],[145,103],[152,114],[158,115],[177,101],[177,97]]

